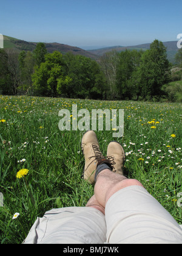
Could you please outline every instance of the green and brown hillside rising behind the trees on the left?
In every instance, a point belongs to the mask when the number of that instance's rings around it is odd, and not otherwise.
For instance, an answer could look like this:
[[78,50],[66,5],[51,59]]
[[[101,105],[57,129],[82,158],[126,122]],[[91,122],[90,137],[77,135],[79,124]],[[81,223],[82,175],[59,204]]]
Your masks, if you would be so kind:
[[[28,42],[24,40],[19,40],[17,38],[8,37],[4,35],[4,48],[5,49],[13,49],[17,52],[20,51],[33,51],[36,48],[37,43]],[[79,54],[91,59],[97,60],[99,57],[98,55],[93,54],[92,52],[85,51],[81,48],[70,46],[67,44],[60,44],[60,43],[45,43],[45,47],[47,52],[52,53],[53,51],[59,51],[62,54],[66,54],[67,52],[72,52],[72,54]]]

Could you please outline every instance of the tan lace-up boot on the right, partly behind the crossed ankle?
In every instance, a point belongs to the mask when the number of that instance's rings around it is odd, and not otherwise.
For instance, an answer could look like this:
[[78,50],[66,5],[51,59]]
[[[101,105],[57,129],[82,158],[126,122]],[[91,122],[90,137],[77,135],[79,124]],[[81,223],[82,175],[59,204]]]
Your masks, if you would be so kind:
[[125,162],[124,149],[117,141],[112,141],[107,147],[107,158],[112,161],[113,172],[123,175]]

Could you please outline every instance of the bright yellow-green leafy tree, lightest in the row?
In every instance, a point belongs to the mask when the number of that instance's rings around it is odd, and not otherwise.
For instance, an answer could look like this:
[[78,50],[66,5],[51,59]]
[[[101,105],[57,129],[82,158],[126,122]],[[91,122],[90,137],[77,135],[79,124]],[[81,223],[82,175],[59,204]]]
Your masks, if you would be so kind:
[[58,96],[61,86],[70,82],[66,76],[66,64],[58,51],[45,55],[45,62],[35,68],[32,75],[36,94],[41,96]]

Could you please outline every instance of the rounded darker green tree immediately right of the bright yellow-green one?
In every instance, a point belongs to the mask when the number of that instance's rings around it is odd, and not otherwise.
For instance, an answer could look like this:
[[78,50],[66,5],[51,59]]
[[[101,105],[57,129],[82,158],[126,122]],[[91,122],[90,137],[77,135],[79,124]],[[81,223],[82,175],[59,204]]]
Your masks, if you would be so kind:
[[104,93],[104,74],[95,60],[82,55],[66,54],[67,74],[72,79],[62,92],[69,98],[101,99]]

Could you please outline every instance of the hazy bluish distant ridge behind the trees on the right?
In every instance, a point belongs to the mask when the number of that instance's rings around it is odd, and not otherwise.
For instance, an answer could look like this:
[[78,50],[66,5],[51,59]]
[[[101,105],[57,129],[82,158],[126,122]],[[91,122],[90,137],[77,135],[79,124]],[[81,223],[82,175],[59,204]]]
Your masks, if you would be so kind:
[[[167,57],[168,57],[169,61],[172,63],[175,63],[175,54],[178,51],[177,41],[167,41],[167,42],[164,42],[163,44],[167,48]],[[112,46],[112,47],[107,47],[107,48],[90,50],[89,52],[91,52],[92,54],[95,54],[95,55],[102,56],[106,52],[110,52],[113,50],[115,50],[117,52],[121,52],[121,51],[125,51],[126,49],[130,49],[130,50],[142,49],[143,51],[146,51],[147,49],[150,49],[150,43],[138,44],[135,46]]]

